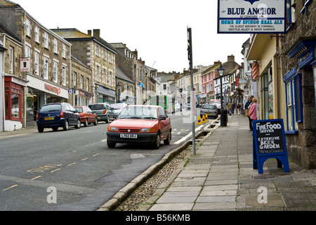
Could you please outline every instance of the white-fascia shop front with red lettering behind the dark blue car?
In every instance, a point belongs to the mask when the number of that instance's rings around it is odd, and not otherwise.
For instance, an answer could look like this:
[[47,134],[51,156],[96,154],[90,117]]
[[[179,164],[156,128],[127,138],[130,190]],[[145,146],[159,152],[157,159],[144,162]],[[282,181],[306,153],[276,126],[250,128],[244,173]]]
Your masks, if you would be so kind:
[[51,84],[44,79],[27,75],[26,127],[36,126],[36,115],[41,105],[68,102],[68,89]]

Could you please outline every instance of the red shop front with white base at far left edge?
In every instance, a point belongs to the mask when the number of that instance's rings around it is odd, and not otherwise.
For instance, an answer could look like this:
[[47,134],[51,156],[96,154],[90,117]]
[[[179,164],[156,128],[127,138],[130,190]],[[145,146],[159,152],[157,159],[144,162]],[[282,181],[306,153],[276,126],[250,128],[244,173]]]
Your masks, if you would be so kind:
[[23,127],[24,93],[27,80],[12,75],[4,77],[4,131]]

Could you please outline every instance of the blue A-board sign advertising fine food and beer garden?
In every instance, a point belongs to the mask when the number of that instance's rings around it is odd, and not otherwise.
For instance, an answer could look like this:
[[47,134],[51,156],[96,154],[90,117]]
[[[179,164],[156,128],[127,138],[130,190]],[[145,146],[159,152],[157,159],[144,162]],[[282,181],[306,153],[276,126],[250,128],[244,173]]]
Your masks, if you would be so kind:
[[270,158],[277,159],[277,167],[289,172],[289,158],[285,141],[284,124],[282,119],[254,120],[254,169],[263,174],[263,164]]

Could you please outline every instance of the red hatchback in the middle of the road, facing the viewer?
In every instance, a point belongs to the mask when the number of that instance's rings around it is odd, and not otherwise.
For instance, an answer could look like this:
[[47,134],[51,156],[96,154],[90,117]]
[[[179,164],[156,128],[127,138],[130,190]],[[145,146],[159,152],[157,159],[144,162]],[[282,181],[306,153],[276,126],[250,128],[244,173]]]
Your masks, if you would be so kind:
[[161,106],[128,105],[107,128],[107,146],[117,143],[150,144],[158,149],[160,141],[169,145],[171,122]]

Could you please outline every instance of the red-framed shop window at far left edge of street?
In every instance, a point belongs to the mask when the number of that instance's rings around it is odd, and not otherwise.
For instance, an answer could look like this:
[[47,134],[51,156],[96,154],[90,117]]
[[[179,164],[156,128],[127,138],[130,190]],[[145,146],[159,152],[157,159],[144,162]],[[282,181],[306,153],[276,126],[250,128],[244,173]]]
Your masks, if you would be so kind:
[[22,121],[22,88],[11,82],[6,82],[5,86],[6,120]]

